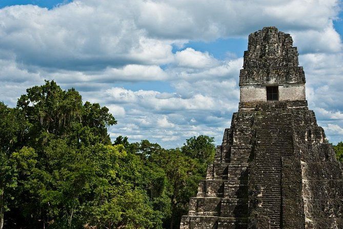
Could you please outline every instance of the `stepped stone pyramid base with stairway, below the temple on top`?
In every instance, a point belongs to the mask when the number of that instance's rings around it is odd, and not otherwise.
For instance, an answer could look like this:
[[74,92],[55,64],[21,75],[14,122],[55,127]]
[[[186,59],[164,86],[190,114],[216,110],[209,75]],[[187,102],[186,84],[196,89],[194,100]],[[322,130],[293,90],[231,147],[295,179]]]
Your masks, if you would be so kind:
[[286,105],[234,113],[181,229],[343,228],[343,163],[314,112]]

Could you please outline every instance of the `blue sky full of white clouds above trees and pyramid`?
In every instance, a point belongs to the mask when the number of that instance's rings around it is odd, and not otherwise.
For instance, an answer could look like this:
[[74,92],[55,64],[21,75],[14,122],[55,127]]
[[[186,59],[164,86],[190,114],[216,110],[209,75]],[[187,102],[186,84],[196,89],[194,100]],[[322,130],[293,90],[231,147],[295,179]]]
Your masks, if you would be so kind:
[[318,124],[343,140],[343,13],[335,0],[0,0],[0,101],[55,80],[107,106],[114,140],[221,144],[247,37],[290,33]]

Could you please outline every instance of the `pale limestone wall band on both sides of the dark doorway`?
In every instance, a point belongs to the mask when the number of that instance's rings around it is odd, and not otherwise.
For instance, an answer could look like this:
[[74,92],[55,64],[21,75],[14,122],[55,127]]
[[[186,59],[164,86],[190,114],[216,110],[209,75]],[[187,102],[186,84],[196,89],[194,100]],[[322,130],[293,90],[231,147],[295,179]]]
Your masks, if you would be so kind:
[[[283,84],[279,86],[279,101],[306,100],[305,84]],[[266,87],[261,85],[240,86],[240,102],[266,102]]]

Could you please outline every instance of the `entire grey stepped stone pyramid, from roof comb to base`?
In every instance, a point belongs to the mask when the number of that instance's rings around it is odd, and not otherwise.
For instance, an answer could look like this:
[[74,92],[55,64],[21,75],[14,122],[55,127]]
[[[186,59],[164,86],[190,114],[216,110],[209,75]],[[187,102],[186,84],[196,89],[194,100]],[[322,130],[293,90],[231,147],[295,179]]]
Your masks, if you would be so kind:
[[305,98],[292,37],[249,35],[240,103],[181,229],[343,228],[343,165]]

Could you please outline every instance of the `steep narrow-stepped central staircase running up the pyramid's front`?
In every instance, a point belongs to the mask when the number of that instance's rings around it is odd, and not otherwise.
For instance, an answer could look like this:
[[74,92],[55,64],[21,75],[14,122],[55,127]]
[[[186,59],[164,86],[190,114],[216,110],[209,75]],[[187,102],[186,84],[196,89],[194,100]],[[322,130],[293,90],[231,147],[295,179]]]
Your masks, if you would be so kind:
[[289,114],[266,112],[257,121],[255,146],[255,185],[260,190],[258,214],[270,228],[281,228],[281,167],[283,157],[293,155]]

